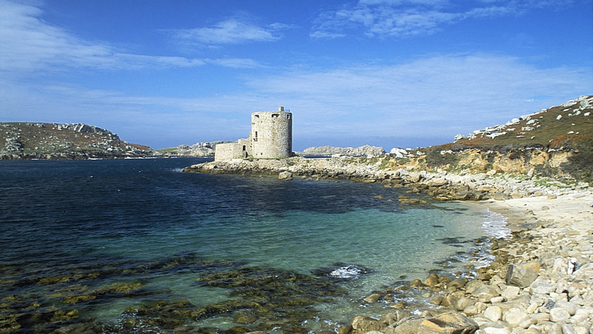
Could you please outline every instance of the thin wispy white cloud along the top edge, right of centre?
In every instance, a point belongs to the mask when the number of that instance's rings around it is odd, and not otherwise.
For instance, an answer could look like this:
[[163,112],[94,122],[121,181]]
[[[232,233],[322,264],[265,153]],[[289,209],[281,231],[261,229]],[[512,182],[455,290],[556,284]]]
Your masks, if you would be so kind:
[[[355,5],[321,13],[314,21],[310,37],[327,39],[364,34],[367,37],[413,36],[432,34],[448,24],[476,17],[524,14],[530,8],[562,5],[570,0],[514,1],[482,0],[360,0]],[[464,4],[465,5],[465,4]]]

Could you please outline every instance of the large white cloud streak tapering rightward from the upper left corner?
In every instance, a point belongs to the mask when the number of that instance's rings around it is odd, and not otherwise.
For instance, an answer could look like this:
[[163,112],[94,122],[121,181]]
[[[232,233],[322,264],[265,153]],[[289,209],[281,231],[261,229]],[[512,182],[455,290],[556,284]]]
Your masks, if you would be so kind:
[[180,56],[138,55],[109,43],[81,39],[42,19],[43,11],[30,5],[0,0],[0,71],[31,73],[40,70],[140,69],[193,67],[207,63],[256,67],[251,59],[189,59]]

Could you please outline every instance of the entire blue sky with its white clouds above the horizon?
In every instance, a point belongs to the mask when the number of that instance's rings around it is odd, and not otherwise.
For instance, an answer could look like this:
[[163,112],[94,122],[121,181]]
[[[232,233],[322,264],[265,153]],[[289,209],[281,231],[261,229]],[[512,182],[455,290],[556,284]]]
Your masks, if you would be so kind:
[[593,94],[591,0],[0,0],[0,121],[422,147]]

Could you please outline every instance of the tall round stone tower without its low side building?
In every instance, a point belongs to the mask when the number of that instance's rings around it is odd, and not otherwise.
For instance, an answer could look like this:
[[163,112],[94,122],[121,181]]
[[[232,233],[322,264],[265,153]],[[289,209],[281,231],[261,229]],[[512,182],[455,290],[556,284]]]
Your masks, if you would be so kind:
[[254,158],[292,157],[292,113],[278,107],[278,112],[251,114],[251,155]]

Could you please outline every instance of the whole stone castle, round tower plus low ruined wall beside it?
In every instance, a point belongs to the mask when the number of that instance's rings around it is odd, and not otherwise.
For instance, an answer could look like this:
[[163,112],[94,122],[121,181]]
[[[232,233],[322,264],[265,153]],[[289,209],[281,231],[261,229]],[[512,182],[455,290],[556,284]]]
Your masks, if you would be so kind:
[[276,159],[292,157],[292,113],[278,107],[277,112],[251,113],[249,138],[216,145],[215,161],[245,158]]

